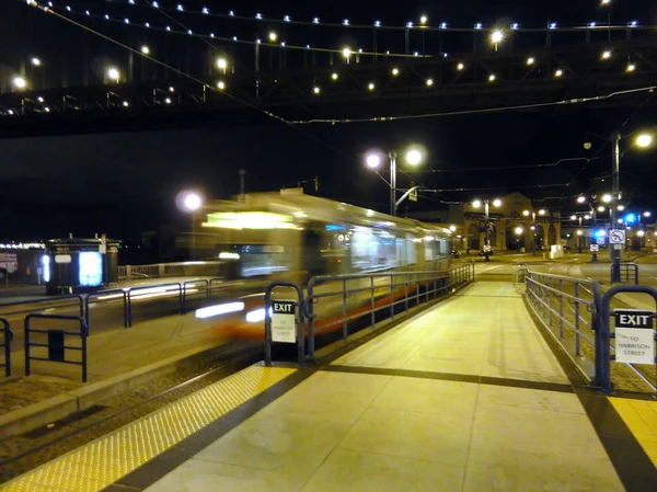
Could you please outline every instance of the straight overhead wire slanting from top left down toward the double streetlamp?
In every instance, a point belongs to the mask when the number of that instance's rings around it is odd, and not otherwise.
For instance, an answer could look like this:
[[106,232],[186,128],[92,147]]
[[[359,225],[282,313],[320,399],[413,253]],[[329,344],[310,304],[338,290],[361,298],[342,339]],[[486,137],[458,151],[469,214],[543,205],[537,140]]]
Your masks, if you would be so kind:
[[158,64],[158,65],[160,65],[161,67],[164,67],[164,68],[166,68],[168,70],[171,70],[171,71],[173,71],[174,73],[178,73],[178,75],[181,75],[181,76],[183,76],[183,77],[185,77],[185,78],[187,78],[187,79],[189,79],[189,80],[193,80],[194,82],[197,82],[197,83],[199,83],[199,84],[200,84],[201,87],[204,87],[206,90],[209,90],[209,91],[216,92],[216,93],[218,93],[218,94],[222,94],[222,95],[224,95],[224,96],[227,96],[227,98],[229,98],[229,99],[231,99],[231,100],[233,100],[233,101],[235,101],[235,102],[238,102],[238,103],[240,103],[240,104],[243,104],[243,105],[244,105],[244,106],[246,106],[246,107],[250,107],[250,108],[252,108],[252,110],[255,110],[255,111],[257,111],[257,112],[260,112],[260,113],[264,114],[265,116],[267,116],[267,117],[269,117],[269,118],[272,118],[272,119],[275,119],[275,121],[277,121],[277,122],[279,122],[279,123],[283,123],[283,124],[285,124],[286,126],[289,126],[289,127],[291,127],[291,128],[293,128],[293,129],[296,129],[296,130],[298,130],[298,131],[302,133],[303,135],[306,135],[306,136],[308,136],[308,137],[310,137],[310,138],[312,138],[312,139],[316,140],[316,141],[319,141],[319,142],[320,142],[320,144],[322,144],[323,146],[325,146],[325,147],[330,148],[331,150],[333,150],[333,151],[335,151],[335,152],[339,153],[339,155],[341,155],[341,156],[343,156],[343,157],[346,157],[346,158],[347,158],[347,159],[349,159],[349,160],[356,160],[356,158],[355,158],[354,156],[350,156],[350,155],[348,155],[347,152],[345,152],[345,151],[343,151],[343,150],[338,149],[337,147],[335,147],[335,146],[333,146],[333,145],[328,144],[327,141],[325,141],[325,140],[321,139],[321,138],[320,138],[320,137],[318,137],[316,135],[313,135],[313,134],[311,134],[310,131],[308,131],[308,130],[306,130],[306,129],[303,129],[303,128],[300,128],[298,125],[296,125],[295,123],[290,122],[289,119],[286,119],[286,118],[284,118],[283,116],[279,116],[279,115],[277,115],[277,114],[275,114],[275,113],[273,113],[273,112],[270,112],[270,111],[267,111],[267,110],[265,110],[265,108],[262,108],[262,107],[258,107],[258,106],[256,106],[256,105],[254,105],[254,104],[251,104],[250,102],[247,102],[247,101],[244,101],[244,100],[243,100],[243,99],[241,99],[241,98],[238,98],[238,96],[235,96],[235,95],[229,94],[228,92],[226,92],[226,91],[222,91],[222,90],[220,90],[220,89],[218,89],[218,88],[214,87],[212,84],[209,84],[209,83],[207,83],[207,82],[205,82],[205,81],[203,81],[203,80],[200,80],[200,79],[198,79],[198,78],[196,78],[196,77],[194,77],[194,76],[192,76],[192,75],[189,75],[189,73],[187,73],[187,72],[185,72],[185,71],[183,71],[183,70],[178,70],[177,68],[175,68],[175,67],[172,67],[172,66],[170,66],[170,65],[168,65],[168,64],[165,64],[165,62],[163,62],[163,61],[161,61],[161,60],[159,60],[159,59],[154,58],[154,57],[153,57],[153,56],[152,56],[150,53],[146,54],[146,53],[143,53],[143,50],[139,50],[139,49],[136,49],[136,48],[134,48],[134,47],[131,47],[131,46],[128,46],[128,45],[126,45],[126,44],[124,44],[124,43],[122,43],[122,42],[119,42],[119,41],[117,41],[117,39],[114,39],[114,38],[113,38],[113,37],[111,37],[111,36],[107,36],[107,35],[105,35],[105,34],[103,34],[103,33],[100,33],[99,31],[95,31],[95,30],[93,30],[93,28],[91,28],[91,27],[89,27],[89,26],[87,26],[87,25],[84,25],[84,24],[81,24],[81,23],[79,23],[79,22],[76,22],[74,20],[72,20],[72,19],[70,19],[70,18],[67,18],[66,15],[64,15],[64,14],[60,14],[60,13],[58,13],[58,12],[56,12],[56,11],[51,10],[51,9],[48,9],[48,8],[41,7],[41,5],[36,4],[36,2],[32,2],[31,4],[32,4],[32,5],[34,5],[34,7],[36,7],[37,9],[41,9],[41,10],[43,10],[43,11],[44,11],[44,12],[46,12],[46,13],[49,13],[49,14],[51,14],[51,15],[55,15],[56,18],[58,18],[58,19],[60,19],[60,20],[62,20],[62,21],[66,21],[66,22],[68,22],[68,23],[70,23],[70,24],[72,24],[72,25],[76,25],[76,26],[78,26],[78,27],[80,27],[80,28],[82,28],[82,30],[84,30],[84,31],[87,31],[87,32],[89,32],[89,33],[92,33],[92,34],[94,34],[95,36],[99,36],[99,37],[101,37],[101,38],[103,38],[103,39],[105,39],[105,41],[107,41],[107,42],[110,42],[110,43],[113,43],[113,44],[115,44],[115,45],[117,45],[117,46],[119,46],[119,47],[122,47],[122,48],[124,48],[124,49],[126,49],[126,50],[128,50],[128,52],[131,52],[131,53],[132,53],[132,54],[135,54],[135,55],[141,56],[141,57],[143,57],[143,58],[146,58],[146,59],[148,59],[148,60],[150,60],[150,61],[152,61],[152,62],[154,62],[154,64]]

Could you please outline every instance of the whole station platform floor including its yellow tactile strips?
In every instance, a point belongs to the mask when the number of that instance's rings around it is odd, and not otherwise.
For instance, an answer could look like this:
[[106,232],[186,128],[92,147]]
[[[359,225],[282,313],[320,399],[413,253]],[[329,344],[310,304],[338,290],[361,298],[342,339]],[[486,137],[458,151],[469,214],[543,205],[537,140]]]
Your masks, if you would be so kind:
[[562,364],[512,285],[481,282],[328,365],[252,366],[0,491],[654,491],[657,428],[633,434],[625,400]]

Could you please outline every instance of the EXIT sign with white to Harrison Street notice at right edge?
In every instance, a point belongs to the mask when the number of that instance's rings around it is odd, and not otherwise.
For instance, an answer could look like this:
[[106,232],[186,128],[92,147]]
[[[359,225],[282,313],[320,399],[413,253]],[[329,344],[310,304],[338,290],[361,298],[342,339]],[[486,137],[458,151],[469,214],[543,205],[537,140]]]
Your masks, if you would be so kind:
[[655,335],[653,312],[635,309],[616,309],[615,359],[620,363],[654,364]]

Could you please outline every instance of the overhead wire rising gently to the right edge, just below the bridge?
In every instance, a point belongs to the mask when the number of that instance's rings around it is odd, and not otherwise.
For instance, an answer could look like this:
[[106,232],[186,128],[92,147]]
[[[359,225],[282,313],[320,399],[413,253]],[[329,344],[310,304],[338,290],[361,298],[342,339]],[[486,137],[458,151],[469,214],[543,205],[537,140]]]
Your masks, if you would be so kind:
[[585,104],[589,102],[600,102],[608,101],[613,98],[618,98],[621,95],[635,94],[641,92],[652,92],[657,89],[657,85],[648,85],[637,89],[627,89],[624,91],[615,91],[604,95],[595,95],[589,98],[578,98],[578,99],[567,99],[560,101],[551,101],[545,103],[533,103],[533,104],[519,104],[511,106],[496,106],[496,107],[486,107],[482,110],[463,110],[463,111],[449,111],[443,113],[424,113],[424,114],[415,114],[415,115],[401,115],[401,116],[372,116],[366,118],[314,118],[314,119],[295,119],[292,123],[296,125],[310,125],[315,123],[324,123],[330,125],[336,124],[349,124],[349,123],[385,123],[385,122],[401,122],[407,119],[423,119],[423,118],[437,118],[437,117],[446,117],[446,116],[463,116],[463,115],[473,115],[473,114],[487,114],[487,113],[503,113],[503,112],[511,112],[511,111],[521,111],[521,110],[538,110],[541,107],[551,107],[551,106],[562,106],[562,105],[575,105],[575,104]]

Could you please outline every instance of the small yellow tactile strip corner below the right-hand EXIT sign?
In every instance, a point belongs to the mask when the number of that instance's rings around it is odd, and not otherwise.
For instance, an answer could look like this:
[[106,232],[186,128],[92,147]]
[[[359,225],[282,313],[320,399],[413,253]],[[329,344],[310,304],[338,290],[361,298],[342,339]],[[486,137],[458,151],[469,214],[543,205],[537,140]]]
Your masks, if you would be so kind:
[[657,468],[657,401],[629,398],[609,400]]

